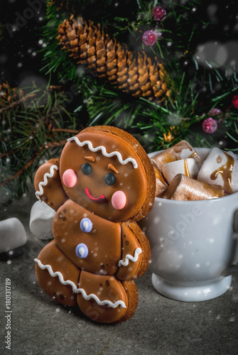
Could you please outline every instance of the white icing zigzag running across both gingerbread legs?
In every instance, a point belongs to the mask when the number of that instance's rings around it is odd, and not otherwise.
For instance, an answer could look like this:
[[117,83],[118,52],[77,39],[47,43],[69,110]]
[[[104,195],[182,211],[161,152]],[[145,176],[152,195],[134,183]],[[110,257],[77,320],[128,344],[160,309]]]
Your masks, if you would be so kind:
[[43,263],[41,263],[41,261],[38,258],[35,258],[34,261],[36,263],[38,263],[38,266],[42,269],[45,270],[45,268],[48,270],[50,276],[52,276],[53,278],[55,278],[55,276],[58,276],[60,279],[60,283],[62,283],[63,285],[70,285],[72,286],[72,292],[73,293],[81,293],[82,297],[84,297],[85,300],[91,300],[91,298],[97,302],[98,305],[103,306],[103,305],[109,305],[112,308],[116,308],[117,306],[120,306],[121,308],[126,308],[125,302],[123,301],[117,301],[115,303],[113,303],[112,301],[109,300],[103,300],[100,301],[99,297],[97,297],[96,295],[94,295],[93,293],[91,293],[90,295],[87,295],[87,293],[85,293],[85,290],[83,288],[77,288],[77,286],[75,285],[75,283],[73,283],[70,280],[64,280],[62,273],[60,273],[60,271],[56,271],[55,273],[52,270],[52,267],[50,265],[43,265]]

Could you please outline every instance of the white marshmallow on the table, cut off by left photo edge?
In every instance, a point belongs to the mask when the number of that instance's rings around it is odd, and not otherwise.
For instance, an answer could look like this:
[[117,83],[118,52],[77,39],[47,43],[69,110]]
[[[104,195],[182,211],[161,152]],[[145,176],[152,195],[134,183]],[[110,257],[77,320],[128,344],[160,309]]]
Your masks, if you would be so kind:
[[26,244],[26,240],[26,231],[19,219],[9,218],[0,222],[0,253],[19,248]]

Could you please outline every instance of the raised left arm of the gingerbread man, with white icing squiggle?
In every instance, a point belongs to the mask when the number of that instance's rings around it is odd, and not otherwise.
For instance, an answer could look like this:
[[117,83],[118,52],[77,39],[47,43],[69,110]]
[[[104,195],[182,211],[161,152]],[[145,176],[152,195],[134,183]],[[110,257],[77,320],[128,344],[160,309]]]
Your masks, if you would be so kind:
[[55,211],[68,199],[60,180],[59,168],[60,159],[50,159],[38,168],[34,180],[38,200]]

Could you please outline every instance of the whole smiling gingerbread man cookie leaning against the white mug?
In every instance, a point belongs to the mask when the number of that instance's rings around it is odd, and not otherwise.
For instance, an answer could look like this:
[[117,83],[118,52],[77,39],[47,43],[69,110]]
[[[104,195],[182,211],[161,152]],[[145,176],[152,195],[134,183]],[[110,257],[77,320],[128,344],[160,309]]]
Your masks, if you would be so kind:
[[128,320],[138,303],[134,279],[151,258],[136,224],[156,190],[144,149],[121,129],[89,127],[68,139],[60,159],[40,166],[35,187],[56,211],[54,239],[35,259],[40,287],[94,321]]

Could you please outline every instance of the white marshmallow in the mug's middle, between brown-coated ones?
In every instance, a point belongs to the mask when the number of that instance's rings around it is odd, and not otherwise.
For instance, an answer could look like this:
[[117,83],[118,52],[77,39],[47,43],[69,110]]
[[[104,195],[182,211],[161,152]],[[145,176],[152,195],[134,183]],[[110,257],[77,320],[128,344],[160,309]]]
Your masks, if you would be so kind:
[[189,178],[197,178],[198,166],[193,158],[181,159],[163,165],[162,172],[164,178],[170,184],[177,174],[183,174]]

